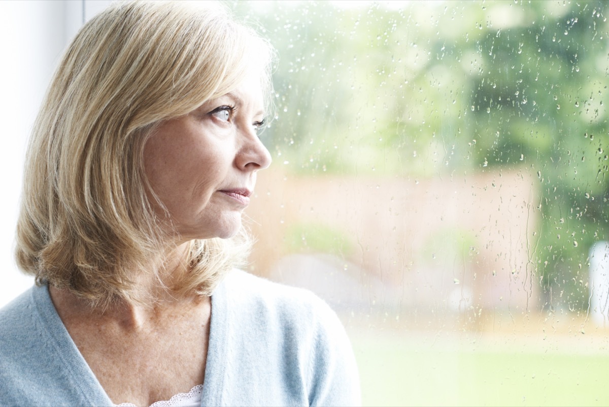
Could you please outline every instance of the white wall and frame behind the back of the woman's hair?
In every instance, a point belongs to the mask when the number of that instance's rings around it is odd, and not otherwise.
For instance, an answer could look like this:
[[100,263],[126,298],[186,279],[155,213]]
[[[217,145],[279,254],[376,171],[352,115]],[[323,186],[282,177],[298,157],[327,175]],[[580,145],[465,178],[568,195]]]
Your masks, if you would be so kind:
[[[32,123],[68,40],[109,1],[0,1],[0,307],[33,279],[13,260],[23,158]],[[84,9],[84,10],[83,10]]]

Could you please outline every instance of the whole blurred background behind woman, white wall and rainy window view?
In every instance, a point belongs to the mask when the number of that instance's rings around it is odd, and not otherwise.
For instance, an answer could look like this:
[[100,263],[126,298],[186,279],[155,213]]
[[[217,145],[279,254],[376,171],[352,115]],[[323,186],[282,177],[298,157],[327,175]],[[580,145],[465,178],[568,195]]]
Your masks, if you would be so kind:
[[[0,2],[0,305],[24,146],[108,1]],[[603,1],[229,1],[278,51],[250,272],[337,311],[364,405],[608,405]]]

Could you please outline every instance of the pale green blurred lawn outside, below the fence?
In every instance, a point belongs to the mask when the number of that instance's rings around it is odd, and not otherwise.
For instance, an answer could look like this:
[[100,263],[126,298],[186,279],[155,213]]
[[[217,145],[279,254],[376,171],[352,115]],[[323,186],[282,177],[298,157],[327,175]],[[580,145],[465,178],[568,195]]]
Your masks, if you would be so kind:
[[364,406],[609,405],[609,352],[598,341],[596,350],[582,352],[555,342],[544,349],[509,339],[488,346],[458,336],[438,342],[386,332],[350,336]]

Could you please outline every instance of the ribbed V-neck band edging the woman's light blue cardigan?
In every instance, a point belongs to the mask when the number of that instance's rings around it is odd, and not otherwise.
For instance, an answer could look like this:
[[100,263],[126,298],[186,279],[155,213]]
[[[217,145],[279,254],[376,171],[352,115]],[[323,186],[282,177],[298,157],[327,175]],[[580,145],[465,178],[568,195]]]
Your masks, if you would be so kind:
[[[228,349],[228,338],[226,337],[228,313],[225,294],[227,292],[224,281],[222,281],[211,296],[209,339],[201,406],[221,405],[222,384],[225,377],[224,361]],[[66,383],[75,386],[82,397],[81,400],[70,400],[69,403],[114,406],[63,325],[51,300],[48,285],[33,288],[32,296],[38,312],[38,319],[35,322],[38,325],[38,332],[43,336],[43,342],[49,348],[49,354],[55,355],[52,359],[56,365],[54,371],[58,375],[65,375]]]

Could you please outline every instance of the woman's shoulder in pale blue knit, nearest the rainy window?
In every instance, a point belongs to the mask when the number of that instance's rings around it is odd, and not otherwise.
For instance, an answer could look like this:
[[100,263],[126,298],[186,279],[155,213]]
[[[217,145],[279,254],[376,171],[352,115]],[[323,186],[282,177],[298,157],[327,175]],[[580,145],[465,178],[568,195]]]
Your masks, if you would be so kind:
[[[231,343],[225,365],[237,366],[234,370],[242,372],[247,383],[256,377],[256,386],[265,392],[261,404],[360,404],[350,341],[322,299],[243,271],[231,272],[219,289],[225,299],[220,300],[222,308],[228,311],[225,338]],[[245,400],[236,399],[240,402]]]

